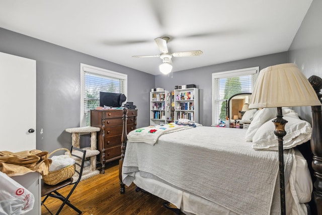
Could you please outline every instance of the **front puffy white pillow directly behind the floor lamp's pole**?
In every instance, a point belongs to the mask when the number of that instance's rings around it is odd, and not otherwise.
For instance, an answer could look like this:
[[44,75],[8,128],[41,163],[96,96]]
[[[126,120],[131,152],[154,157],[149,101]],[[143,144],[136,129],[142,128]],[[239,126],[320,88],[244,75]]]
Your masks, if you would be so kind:
[[[297,113],[285,114],[283,118],[288,121],[285,124],[286,135],[283,137],[283,149],[291,149],[311,138],[311,125],[299,119]],[[275,126],[271,120],[265,122],[253,136],[253,149],[278,151],[278,140],[274,130]]]

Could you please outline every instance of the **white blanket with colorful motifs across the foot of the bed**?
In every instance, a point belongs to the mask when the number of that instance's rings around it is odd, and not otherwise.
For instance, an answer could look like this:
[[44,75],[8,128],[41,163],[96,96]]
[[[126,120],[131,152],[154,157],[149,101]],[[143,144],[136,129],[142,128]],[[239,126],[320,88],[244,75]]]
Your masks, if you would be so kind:
[[145,142],[146,144],[154,145],[159,136],[162,134],[189,128],[193,128],[193,126],[177,125],[175,123],[165,125],[150,125],[132,130],[127,135],[127,138],[130,142]]

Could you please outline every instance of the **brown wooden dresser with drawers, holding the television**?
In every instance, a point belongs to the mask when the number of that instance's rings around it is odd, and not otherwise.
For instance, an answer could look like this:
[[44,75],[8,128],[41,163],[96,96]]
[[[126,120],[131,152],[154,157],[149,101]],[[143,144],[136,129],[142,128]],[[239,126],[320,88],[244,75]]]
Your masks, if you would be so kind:
[[[121,158],[123,110],[91,110],[91,126],[100,127],[97,133],[97,160],[105,173],[105,163]],[[136,129],[137,110],[128,110],[127,133]]]

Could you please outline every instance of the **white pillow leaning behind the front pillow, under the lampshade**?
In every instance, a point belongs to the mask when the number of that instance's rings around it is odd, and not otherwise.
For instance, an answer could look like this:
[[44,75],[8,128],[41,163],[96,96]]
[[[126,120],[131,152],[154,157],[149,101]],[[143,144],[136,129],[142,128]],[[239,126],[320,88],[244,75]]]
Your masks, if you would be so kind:
[[[282,108],[282,114],[288,114],[293,112],[294,110],[290,108],[287,108],[287,107]],[[253,120],[246,131],[245,140],[247,142],[253,141],[253,136],[256,133],[257,129],[261,127],[268,120],[275,119],[276,115],[277,115],[277,108],[263,108],[261,110],[256,111],[253,116]]]

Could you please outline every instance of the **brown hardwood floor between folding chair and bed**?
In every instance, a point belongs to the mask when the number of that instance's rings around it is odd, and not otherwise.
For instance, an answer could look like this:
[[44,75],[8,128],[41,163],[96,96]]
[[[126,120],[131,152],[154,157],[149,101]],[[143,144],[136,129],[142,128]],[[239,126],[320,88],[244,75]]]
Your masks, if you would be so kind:
[[[69,198],[70,202],[82,210],[84,215],[175,214],[163,206],[163,199],[149,193],[136,192],[134,184],[126,187],[124,194],[120,194],[118,170],[118,161],[112,162],[108,164],[105,174],[99,174],[79,182]],[[60,193],[65,195],[69,189],[62,188]],[[49,197],[45,205],[55,214],[61,201]],[[41,214],[50,214],[43,205],[41,206]],[[59,214],[70,215],[77,214],[77,212],[65,205]]]

